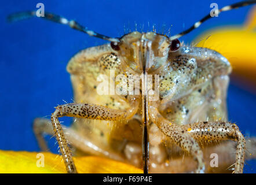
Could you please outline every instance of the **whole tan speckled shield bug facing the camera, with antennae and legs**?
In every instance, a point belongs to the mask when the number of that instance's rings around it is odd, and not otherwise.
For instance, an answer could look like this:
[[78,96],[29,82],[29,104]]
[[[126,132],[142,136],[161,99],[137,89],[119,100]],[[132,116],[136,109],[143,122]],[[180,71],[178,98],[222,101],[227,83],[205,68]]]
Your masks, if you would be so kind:
[[[253,3],[243,1],[217,12]],[[21,12],[10,15],[9,20],[35,15]],[[77,103],[57,106],[52,125],[43,119],[34,123],[42,149],[46,149],[43,132],[56,136],[68,173],[76,173],[68,142],[78,153],[142,164],[145,173],[149,165],[170,170],[162,166],[168,155],[163,143],[170,142],[192,156],[195,172],[203,173],[206,162],[201,146],[227,139],[237,142],[235,173],[243,172],[246,140],[236,124],[226,121],[231,66],[216,51],[182,46],[178,40],[211,18],[210,13],[171,37],[136,31],[110,38],[52,13],[42,18],[110,42],[82,50],[68,63]],[[58,118],[63,116],[75,117],[71,128],[60,124]],[[180,153],[180,149],[171,153]],[[189,166],[184,170],[189,171]]]

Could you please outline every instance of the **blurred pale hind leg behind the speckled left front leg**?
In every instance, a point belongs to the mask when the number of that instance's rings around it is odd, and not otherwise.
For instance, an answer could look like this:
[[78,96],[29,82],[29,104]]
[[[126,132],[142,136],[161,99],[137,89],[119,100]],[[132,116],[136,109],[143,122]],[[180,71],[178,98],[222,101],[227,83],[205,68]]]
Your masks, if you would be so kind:
[[[110,149],[103,149],[100,146],[97,146],[95,143],[87,139],[86,136],[79,134],[74,129],[65,127],[64,125],[61,125],[61,127],[63,128],[64,135],[68,140],[68,143],[70,143],[76,149],[92,155],[104,156],[111,158],[112,160],[124,161],[124,158],[119,154]],[[42,134],[54,135],[51,121],[48,119],[37,118],[34,120],[33,129],[36,139],[38,140],[39,147],[42,151],[47,151],[47,144]]]

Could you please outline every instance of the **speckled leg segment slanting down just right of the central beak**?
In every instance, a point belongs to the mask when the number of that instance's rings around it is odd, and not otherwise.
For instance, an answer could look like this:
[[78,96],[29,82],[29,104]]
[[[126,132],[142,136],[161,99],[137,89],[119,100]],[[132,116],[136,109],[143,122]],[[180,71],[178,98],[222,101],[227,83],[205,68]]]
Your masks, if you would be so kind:
[[195,160],[198,162],[196,168],[196,173],[204,173],[205,165],[203,160],[203,151],[200,148],[198,142],[189,135],[180,125],[175,123],[170,123],[166,120],[159,112],[158,109],[151,106],[149,109],[149,114],[151,115],[151,120],[153,123],[158,125],[159,129],[168,136],[172,142],[181,147],[182,150],[191,154]]

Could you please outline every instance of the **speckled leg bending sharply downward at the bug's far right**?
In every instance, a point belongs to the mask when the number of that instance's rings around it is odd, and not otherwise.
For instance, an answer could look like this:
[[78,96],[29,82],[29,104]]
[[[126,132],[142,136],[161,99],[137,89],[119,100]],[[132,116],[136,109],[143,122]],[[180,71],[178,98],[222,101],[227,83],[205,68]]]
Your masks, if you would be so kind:
[[227,121],[203,121],[182,125],[181,128],[196,140],[236,140],[236,164],[234,172],[243,173],[246,140],[236,124]]

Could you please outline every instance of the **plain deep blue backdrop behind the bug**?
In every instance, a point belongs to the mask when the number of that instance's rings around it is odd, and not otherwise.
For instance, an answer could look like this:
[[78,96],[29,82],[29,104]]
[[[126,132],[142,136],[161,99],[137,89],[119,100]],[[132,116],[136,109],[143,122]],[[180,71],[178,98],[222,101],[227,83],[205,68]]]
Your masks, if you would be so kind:
[[[172,25],[171,34],[190,27],[210,11],[210,3],[219,8],[231,0],[221,1],[2,1],[0,10],[0,149],[39,151],[32,133],[35,117],[50,117],[54,106],[63,99],[72,102],[70,75],[65,67],[79,50],[104,44],[105,41],[40,18],[13,24],[6,16],[21,10],[34,10],[42,2],[46,12],[75,19],[82,25],[108,36],[122,36],[129,30],[162,33]],[[242,25],[251,7],[232,10],[209,20],[199,29],[181,40],[190,43],[206,29],[222,25]],[[150,27],[148,27],[148,23]],[[124,31],[124,27],[126,31]],[[229,87],[229,119],[239,125],[243,134],[255,136],[255,93],[237,86],[233,80]],[[71,120],[66,120],[68,125]],[[47,138],[51,151],[56,152],[54,140]],[[255,161],[247,161],[244,172],[256,172]]]

